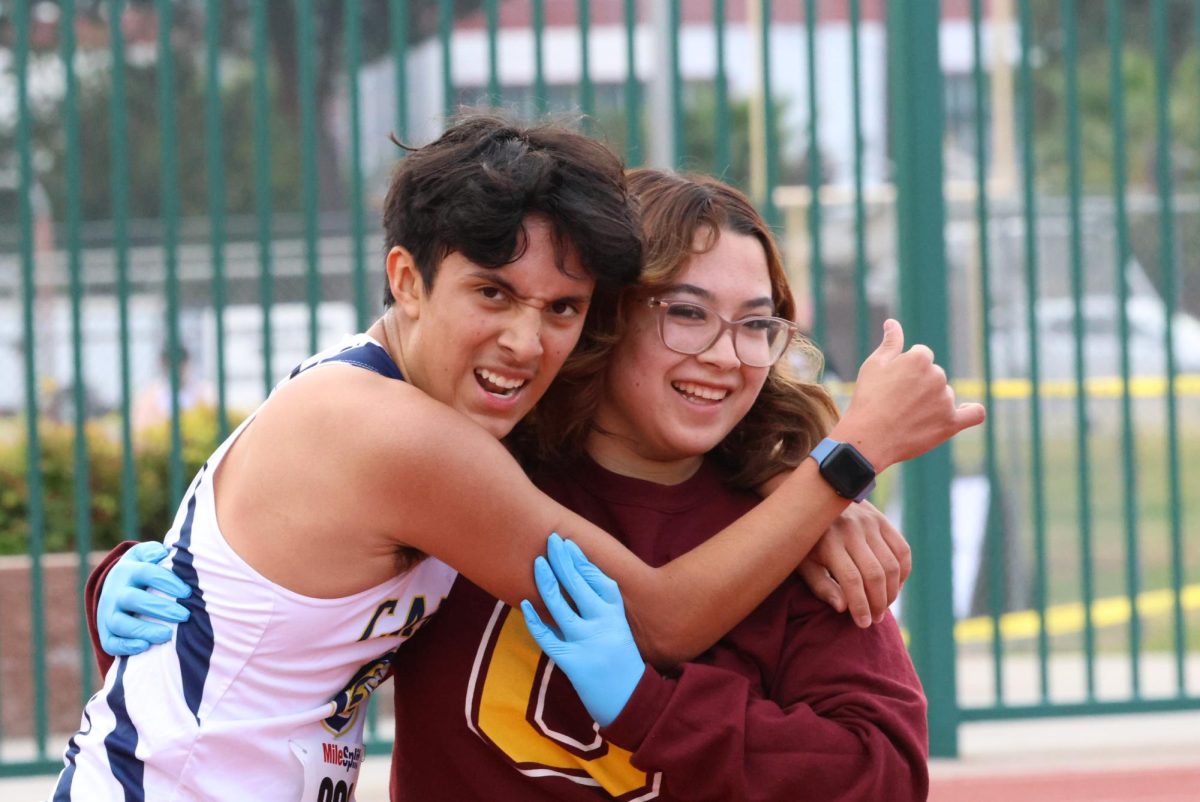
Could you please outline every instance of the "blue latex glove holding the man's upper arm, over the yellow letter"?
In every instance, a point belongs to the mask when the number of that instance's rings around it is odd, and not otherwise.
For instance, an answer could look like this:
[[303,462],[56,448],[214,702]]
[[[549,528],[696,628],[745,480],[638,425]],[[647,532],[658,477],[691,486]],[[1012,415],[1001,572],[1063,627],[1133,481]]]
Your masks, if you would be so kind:
[[[575,686],[592,718],[607,726],[634,695],[646,662],[625,620],[617,582],[593,565],[577,545],[557,534],[550,535],[547,552],[550,562],[539,556],[533,573],[558,630],[542,623],[528,599],[521,603],[526,626]],[[568,604],[563,589],[578,612]]]

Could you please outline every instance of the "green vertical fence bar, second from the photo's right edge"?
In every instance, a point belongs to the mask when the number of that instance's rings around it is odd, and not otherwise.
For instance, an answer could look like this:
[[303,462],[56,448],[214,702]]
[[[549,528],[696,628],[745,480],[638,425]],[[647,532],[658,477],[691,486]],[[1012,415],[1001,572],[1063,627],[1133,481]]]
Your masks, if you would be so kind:
[[1126,110],[1124,60],[1122,54],[1121,0],[1109,0],[1109,95],[1112,98],[1112,198],[1116,202],[1117,331],[1121,336],[1121,478],[1126,529],[1126,592],[1129,598],[1129,677],[1133,695],[1141,694],[1141,614],[1138,610],[1138,474],[1134,466],[1138,441],[1133,425],[1133,393],[1129,387],[1129,219],[1126,211]]

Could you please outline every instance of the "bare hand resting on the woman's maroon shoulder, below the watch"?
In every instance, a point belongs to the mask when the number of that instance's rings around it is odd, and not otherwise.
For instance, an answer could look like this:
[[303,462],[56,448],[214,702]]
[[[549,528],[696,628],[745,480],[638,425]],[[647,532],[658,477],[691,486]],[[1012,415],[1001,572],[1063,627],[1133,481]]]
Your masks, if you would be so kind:
[[851,504],[797,569],[812,594],[854,623],[878,623],[912,573],[912,550],[870,502]]

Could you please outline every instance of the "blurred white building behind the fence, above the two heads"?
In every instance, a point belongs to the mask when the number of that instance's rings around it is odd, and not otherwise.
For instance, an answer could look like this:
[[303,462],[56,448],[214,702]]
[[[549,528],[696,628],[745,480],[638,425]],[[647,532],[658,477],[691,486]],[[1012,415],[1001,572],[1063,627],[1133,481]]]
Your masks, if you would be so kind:
[[[588,74],[592,78],[598,113],[624,103],[628,64],[628,35],[623,0],[593,0],[588,31]],[[727,92],[733,102],[761,96],[760,25],[751,19],[752,6],[746,0],[726,2],[725,72]],[[808,31],[802,2],[773,2],[769,25],[770,90],[782,107],[779,120],[782,132],[782,156],[799,161],[808,148],[809,76]],[[815,34],[817,142],[823,169],[833,184],[850,185],[854,178],[854,86],[853,42],[848,0],[818,2]],[[961,139],[971,145],[974,125],[971,71],[970,5],[965,0],[943,4],[941,30],[942,66],[946,73],[947,139],[950,146]],[[638,20],[634,30],[634,60],[643,98],[643,119],[650,127],[667,121],[666,112],[650,100],[654,84],[666,80],[659,53],[664,37],[653,4],[638,2]],[[542,79],[552,109],[568,104],[582,77],[582,36],[578,4],[553,0],[545,4],[542,34]],[[716,26],[712,0],[682,0],[679,31],[679,76],[685,85],[709,84],[716,79]],[[1016,32],[1006,24],[1006,60],[1015,58]],[[984,59],[996,52],[991,26],[980,31]],[[535,48],[529,0],[500,0],[497,36],[497,67],[502,95],[506,104],[522,110],[533,108],[535,85]],[[858,97],[863,148],[863,175],[868,185],[888,180],[887,128],[887,20],[881,0],[862,2],[858,26]],[[360,97],[370,98],[361,108],[364,170],[368,175],[386,174],[395,158],[388,142],[394,128],[396,102],[407,102],[409,139],[426,142],[444,125],[446,102],[442,77],[442,43],[437,36],[414,44],[408,52],[408,86],[395,91],[395,66],[390,58],[365,66],[360,72]],[[488,31],[482,11],[455,22],[450,40],[452,104],[485,95],[488,85]],[[337,118],[348,119],[346,98],[338,104]],[[985,114],[985,119],[988,115]],[[661,126],[660,126],[661,127]],[[962,130],[965,128],[965,130]],[[602,132],[601,132],[602,133]],[[341,136],[349,137],[344,126]],[[643,143],[649,145],[649,143]],[[953,163],[953,160],[952,160]],[[704,166],[697,166],[703,169]]]

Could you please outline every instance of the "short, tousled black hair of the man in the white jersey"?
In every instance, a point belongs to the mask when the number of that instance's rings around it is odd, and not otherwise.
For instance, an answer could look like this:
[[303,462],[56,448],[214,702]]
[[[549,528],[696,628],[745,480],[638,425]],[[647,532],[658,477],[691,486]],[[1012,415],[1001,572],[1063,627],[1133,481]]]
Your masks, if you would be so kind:
[[[560,121],[523,127],[473,113],[424,148],[392,140],[410,152],[384,202],[386,250],[407,249],[427,288],[450,253],[486,268],[521,258],[528,215],[550,221],[564,273],[570,249],[600,293],[637,280],[637,214],[620,160],[600,142]],[[395,300],[386,282],[383,300]]]

